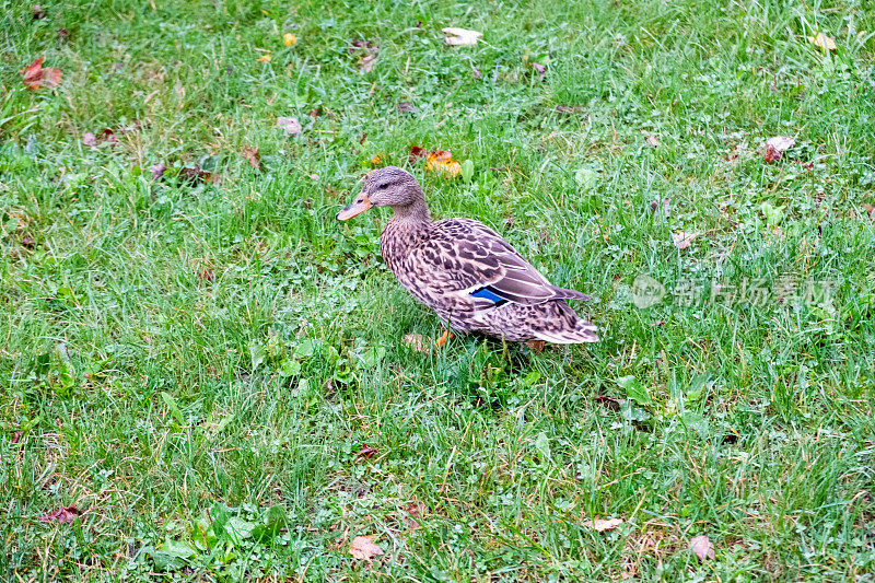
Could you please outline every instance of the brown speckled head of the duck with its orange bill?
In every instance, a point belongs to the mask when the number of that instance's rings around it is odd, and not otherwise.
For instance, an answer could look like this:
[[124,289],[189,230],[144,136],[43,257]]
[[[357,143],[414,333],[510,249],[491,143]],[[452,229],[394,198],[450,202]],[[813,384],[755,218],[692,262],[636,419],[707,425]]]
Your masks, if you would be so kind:
[[371,207],[392,207],[398,213],[419,205],[424,206],[422,188],[413,175],[397,166],[386,166],[368,173],[362,191],[337,213],[337,220],[352,219]]

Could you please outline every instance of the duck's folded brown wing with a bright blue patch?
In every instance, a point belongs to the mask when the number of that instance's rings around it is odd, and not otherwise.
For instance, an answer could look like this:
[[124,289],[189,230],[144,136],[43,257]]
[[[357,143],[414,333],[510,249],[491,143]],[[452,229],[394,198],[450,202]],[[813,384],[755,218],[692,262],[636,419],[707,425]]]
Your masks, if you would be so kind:
[[433,223],[431,237],[418,255],[433,276],[430,285],[440,287],[443,293],[469,295],[479,308],[506,302],[530,305],[590,299],[552,285],[501,235],[470,219]]

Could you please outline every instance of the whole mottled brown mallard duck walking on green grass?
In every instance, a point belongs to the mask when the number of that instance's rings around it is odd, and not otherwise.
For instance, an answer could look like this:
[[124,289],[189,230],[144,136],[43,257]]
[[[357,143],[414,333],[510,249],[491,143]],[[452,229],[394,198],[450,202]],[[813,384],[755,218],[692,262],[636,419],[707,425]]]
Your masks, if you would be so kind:
[[396,166],[372,171],[337,219],[346,221],[372,207],[393,210],[380,236],[386,265],[450,329],[512,342],[598,340],[596,327],[565,302],[590,300],[588,295],[552,285],[479,221],[432,222],[422,188],[409,172]]

